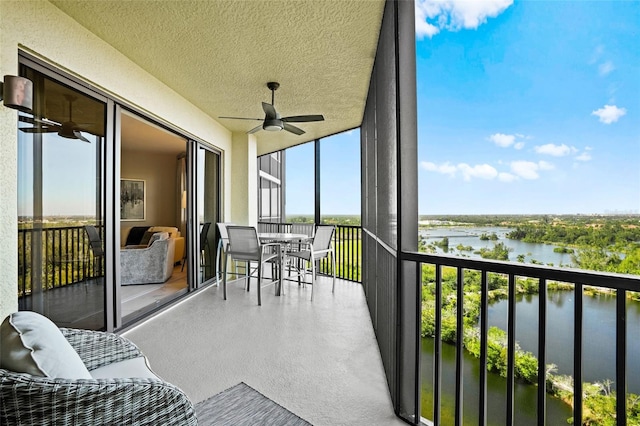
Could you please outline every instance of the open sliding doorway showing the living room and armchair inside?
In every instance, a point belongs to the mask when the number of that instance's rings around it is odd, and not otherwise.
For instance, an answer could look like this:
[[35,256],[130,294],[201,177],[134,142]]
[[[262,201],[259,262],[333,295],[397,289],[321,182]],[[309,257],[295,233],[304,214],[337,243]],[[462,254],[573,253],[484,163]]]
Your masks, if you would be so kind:
[[120,288],[123,324],[188,291],[187,139],[120,111]]

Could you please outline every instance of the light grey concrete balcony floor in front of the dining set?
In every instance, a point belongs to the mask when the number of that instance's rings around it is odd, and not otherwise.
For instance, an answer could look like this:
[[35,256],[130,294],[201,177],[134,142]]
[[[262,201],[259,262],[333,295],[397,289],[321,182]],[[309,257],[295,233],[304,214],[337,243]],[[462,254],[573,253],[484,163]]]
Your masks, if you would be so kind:
[[314,425],[405,424],[394,412],[362,286],[320,277],[209,287],[124,333],[194,403],[240,382]]

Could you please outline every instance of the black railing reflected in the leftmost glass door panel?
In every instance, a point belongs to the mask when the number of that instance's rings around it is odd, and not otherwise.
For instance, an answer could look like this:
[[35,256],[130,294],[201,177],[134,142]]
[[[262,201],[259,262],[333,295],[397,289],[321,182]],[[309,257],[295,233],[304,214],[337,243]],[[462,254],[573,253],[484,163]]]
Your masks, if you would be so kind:
[[104,260],[91,255],[83,226],[18,229],[18,297],[36,281],[49,290],[103,275]]

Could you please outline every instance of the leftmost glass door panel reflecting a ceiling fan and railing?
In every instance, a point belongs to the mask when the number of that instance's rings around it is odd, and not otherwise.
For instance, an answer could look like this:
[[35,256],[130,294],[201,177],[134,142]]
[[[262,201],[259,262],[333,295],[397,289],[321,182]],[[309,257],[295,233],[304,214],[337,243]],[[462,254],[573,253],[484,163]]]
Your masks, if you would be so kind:
[[21,75],[34,107],[18,121],[19,308],[103,330],[106,103],[25,65]]

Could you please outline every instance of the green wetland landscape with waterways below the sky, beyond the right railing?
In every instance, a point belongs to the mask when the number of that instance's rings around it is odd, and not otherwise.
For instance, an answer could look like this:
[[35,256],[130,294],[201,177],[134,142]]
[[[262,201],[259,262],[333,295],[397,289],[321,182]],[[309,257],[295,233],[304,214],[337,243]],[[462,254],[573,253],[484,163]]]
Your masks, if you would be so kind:
[[[468,217],[467,217],[468,219]],[[539,218],[538,218],[539,219]],[[638,275],[640,273],[640,232],[638,217],[610,218],[555,218],[545,220],[515,218],[513,221],[469,223],[468,221],[423,221],[419,231],[421,251],[475,259],[498,259],[525,264],[544,264],[557,268],[617,272]],[[485,219],[486,220],[486,219]],[[427,225],[428,224],[428,225]],[[426,226],[425,226],[426,225]],[[433,416],[433,355],[435,324],[434,270],[423,269],[423,326],[422,326],[422,415]],[[476,275],[474,275],[476,274]],[[443,424],[453,422],[455,415],[455,287],[456,272],[444,268],[442,278],[442,403]],[[464,424],[477,424],[479,397],[479,360],[472,353],[474,328],[478,326],[476,314],[479,299],[479,276],[473,271],[465,272],[465,350],[463,368]],[[488,310],[489,341],[506,342],[503,331],[507,331],[508,301],[505,300],[507,280],[500,274],[489,274],[490,297]],[[516,298],[516,342],[519,353],[534,364],[530,377],[535,382],[538,356],[538,305],[537,280],[518,282]],[[523,289],[529,286],[528,289]],[[567,424],[572,417],[570,392],[572,389],[573,340],[574,340],[574,292],[573,286],[563,283],[548,283],[547,287],[547,335],[546,372],[548,389],[560,389],[555,395],[547,394],[547,424]],[[585,395],[587,393],[615,400],[616,378],[616,298],[615,292],[604,289],[587,289],[583,293],[583,345],[582,373]],[[627,392],[640,394],[640,302],[632,293],[627,293]],[[473,320],[473,318],[476,318]],[[470,322],[471,321],[471,322]],[[492,337],[491,330],[495,330]],[[503,331],[500,331],[503,330]],[[497,343],[498,347],[503,343]],[[491,343],[490,343],[491,346]],[[503,354],[504,355],[504,354]],[[516,370],[518,369],[516,355]],[[489,360],[489,364],[497,358]],[[525,366],[523,361],[523,366]],[[526,367],[526,366],[525,366]],[[494,366],[495,368],[495,366]],[[504,367],[501,367],[504,368]],[[531,379],[516,380],[515,421],[518,425],[537,424],[537,386],[526,383]],[[552,383],[552,385],[549,385]],[[497,372],[487,376],[488,424],[505,424],[506,379]],[[563,396],[564,395],[564,396]],[[586,397],[585,397],[586,398]],[[635,400],[635,398],[632,397]],[[602,401],[602,399],[600,400]],[[600,413],[608,416],[610,408],[597,406]],[[631,406],[633,405],[633,407]],[[614,406],[614,405],[611,405]],[[635,402],[628,403],[628,410],[635,410]],[[596,411],[596,410],[594,410]],[[589,412],[589,409],[587,409]],[[628,419],[631,423],[635,417]],[[589,424],[600,424],[589,423]]]

